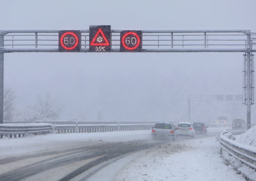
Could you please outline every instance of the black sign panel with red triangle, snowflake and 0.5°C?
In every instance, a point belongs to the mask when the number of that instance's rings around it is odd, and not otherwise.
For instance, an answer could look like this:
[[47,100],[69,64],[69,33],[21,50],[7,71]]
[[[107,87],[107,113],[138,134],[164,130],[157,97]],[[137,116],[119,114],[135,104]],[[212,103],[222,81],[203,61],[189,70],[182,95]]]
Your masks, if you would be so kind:
[[92,52],[111,51],[111,26],[90,25],[89,50]]

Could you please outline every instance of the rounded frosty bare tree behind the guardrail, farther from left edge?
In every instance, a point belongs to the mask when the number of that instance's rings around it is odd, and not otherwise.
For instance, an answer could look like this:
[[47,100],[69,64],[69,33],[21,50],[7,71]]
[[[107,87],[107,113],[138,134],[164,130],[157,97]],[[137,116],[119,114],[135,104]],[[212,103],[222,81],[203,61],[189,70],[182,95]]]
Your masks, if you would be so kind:
[[36,112],[40,115],[41,119],[58,119],[63,107],[64,104],[58,104],[58,102],[52,98],[49,91],[46,92],[45,98],[42,98],[40,94],[37,96],[35,109]]

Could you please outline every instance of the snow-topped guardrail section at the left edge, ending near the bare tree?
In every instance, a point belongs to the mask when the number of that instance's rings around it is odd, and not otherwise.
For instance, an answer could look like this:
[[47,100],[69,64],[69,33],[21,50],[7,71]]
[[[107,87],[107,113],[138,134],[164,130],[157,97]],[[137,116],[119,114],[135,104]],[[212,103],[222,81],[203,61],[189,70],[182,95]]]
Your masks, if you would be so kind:
[[1,124],[0,125],[0,137],[3,135],[9,135],[12,138],[21,135],[24,137],[25,134],[41,134],[52,132],[52,124],[48,123],[37,123],[37,124]]

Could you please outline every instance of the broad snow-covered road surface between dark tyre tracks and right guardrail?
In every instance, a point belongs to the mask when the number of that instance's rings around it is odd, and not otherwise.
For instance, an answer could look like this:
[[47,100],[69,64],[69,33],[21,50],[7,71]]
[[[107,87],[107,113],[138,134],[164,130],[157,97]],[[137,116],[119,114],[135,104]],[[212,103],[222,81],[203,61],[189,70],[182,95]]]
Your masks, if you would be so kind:
[[[131,157],[134,157],[131,159]],[[124,164],[122,164],[124,163]],[[116,170],[116,167],[122,169]],[[109,173],[112,170],[113,173]],[[215,136],[177,140],[135,153],[110,164],[92,176],[93,180],[115,181],[241,181],[220,156],[220,142]]]

